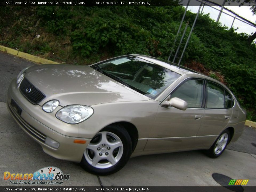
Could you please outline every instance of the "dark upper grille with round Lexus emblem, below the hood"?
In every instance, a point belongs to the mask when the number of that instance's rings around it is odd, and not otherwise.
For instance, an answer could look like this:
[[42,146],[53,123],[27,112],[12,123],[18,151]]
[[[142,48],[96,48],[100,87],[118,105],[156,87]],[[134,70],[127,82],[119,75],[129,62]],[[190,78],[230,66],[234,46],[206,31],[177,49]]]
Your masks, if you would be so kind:
[[26,78],[24,78],[19,86],[21,93],[34,105],[46,98],[46,96],[34,87]]

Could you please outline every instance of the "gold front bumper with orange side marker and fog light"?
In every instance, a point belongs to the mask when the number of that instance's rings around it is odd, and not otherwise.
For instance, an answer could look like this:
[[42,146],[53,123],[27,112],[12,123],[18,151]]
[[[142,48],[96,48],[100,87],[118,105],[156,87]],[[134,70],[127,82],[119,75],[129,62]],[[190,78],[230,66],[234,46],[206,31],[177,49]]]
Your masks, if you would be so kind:
[[[53,112],[53,114],[46,116],[47,113],[42,110],[41,106],[33,105],[20,93],[15,80],[9,86],[7,98],[7,108],[10,114],[19,126],[42,146],[45,153],[58,159],[74,162],[81,161],[86,146],[90,143],[90,139],[78,137],[78,127],[76,125],[73,126],[59,121],[55,117],[58,108],[54,111],[55,113]],[[21,108],[20,115],[19,111],[11,105],[11,99]],[[56,130],[62,131],[62,133]],[[59,148],[55,149],[47,145],[45,143],[46,137],[59,142]],[[86,143],[74,143],[75,139],[85,140]]]

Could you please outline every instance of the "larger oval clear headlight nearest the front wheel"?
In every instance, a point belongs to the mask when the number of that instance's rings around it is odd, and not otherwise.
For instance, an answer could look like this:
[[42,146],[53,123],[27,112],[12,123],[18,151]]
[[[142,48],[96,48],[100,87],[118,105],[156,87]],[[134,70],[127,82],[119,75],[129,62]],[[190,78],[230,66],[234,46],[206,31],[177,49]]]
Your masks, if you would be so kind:
[[56,113],[56,117],[70,124],[77,124],[85,121],[93,114],[93,108],[85,105],[68,105]]

